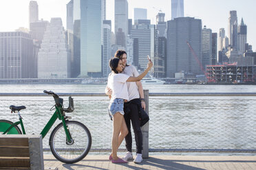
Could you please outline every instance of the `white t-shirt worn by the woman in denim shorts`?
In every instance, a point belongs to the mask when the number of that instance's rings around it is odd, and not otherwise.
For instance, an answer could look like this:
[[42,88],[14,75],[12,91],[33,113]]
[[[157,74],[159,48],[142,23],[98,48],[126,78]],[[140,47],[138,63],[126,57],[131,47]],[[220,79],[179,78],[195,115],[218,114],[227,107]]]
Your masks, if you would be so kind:
[[122,73],[115,74],[110,73],[107,80],[107,86],[111,88],[112,95],[110,101],[114,101],[116,98],[129,100],[128,90],[126,80],[129,78],[129,75]]

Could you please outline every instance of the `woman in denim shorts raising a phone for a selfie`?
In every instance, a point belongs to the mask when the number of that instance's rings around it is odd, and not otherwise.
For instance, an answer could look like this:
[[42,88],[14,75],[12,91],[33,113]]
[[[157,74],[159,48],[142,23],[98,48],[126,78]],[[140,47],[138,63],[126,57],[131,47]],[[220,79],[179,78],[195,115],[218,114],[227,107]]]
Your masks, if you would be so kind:
[[109,104],[109,114],[113,119],[112,153],[109,156],[109,159],[111,159],[111,162],[113,163],[125,163],[127,161],[118,158],[117,151],[123,138],[128,134],[127,125],[123,117],[125,114],[123,111],[124,101],[129,100],[126,82],[138,82],[142,80],[153,66],[153,63],[149,60],[147,69],[137,77],[121,73],[123,66],[122,60],[119,58],[111,58],[109,66],[111,68],[111,74],[109,75],[107,86],[112,91]]

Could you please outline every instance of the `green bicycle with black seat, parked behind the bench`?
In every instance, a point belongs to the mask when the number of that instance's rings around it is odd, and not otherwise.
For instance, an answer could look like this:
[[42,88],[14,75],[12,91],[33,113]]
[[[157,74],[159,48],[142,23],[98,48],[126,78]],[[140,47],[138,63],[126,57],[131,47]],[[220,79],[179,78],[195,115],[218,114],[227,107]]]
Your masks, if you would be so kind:
[[[88,128],[81,122],[70,121],[71,117],[67,117],[65,112],[73,112],[74,101],[69,97],[69,107],[63,107],[63,99],[52,91],[43,90],[43,93],[52,95],[55,101],[55,112],[51,119],[43,128],[42,138],[49,132],[54,122],[59,119],[62,122],[54,127],[50,134],[49,145],[52,154],[57,160],[71,164],[78,162],[87,156],[92,145],[92,136]],[[12,123],[12,121],[0,120],[0,134],[25,134],[25,127],[23,125],[20,110],[25,109],[25,106],[10,106],[12,112],[17,112],[19,121]],[[21,130],[18,125],[21,125]]]

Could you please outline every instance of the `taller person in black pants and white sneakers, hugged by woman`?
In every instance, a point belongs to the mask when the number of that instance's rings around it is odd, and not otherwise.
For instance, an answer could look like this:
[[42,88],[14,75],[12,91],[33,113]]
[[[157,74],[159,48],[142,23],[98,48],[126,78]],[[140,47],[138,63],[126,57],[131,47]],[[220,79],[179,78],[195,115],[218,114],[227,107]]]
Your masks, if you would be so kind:
[[[133,65],[127,65],[127,53],[124,50],[118,50],[115,53],[116,58],[122,60],[122,66],[124,69],[122,73],[129,76],[138,76],[139,73],[136,70],[136,67]],[[135,163],[142,162],[142,131],[140,128],[140,118],[139,118],[139,109],[142,107],[146,109],[146,104],[144,100],[144,92],[141,82],[128,82],[127,83],[129,102],[125,103],[125,123],[128,128],[128,134],[125,136],[125,147],[127,149],[126,155],[122,158],[124,160],[133,159],[132,155],[132,137],[131,137],[131,125],[134,129],[134,136],[136,141],[136,158],[134,159]]]

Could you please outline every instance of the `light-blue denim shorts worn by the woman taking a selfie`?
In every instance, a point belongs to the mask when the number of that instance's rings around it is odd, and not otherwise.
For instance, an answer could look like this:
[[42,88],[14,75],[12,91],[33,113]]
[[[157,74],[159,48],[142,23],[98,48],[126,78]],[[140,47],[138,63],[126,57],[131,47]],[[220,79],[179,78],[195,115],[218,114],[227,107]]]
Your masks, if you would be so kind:
[[109,117],[112,119],[112,117],[116,114],[116,112],[120,112],[120,114],[124,115],[124,99],[114,99],[114,101],[111,101],[109,104]]

